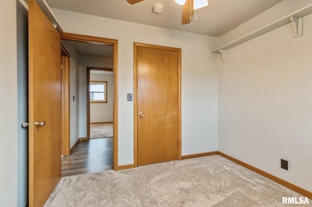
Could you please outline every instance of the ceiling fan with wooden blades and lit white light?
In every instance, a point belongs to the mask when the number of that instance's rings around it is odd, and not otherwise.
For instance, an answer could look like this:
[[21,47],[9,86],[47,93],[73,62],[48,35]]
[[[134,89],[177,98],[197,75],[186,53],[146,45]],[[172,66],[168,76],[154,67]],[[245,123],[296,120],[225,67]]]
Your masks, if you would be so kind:
[[[130,4],[135,4],[143,0],[127,0],[127,1]],[[183,5],[182,24],[188,24],[191,22],[195,9],[208,6],[208,0],[198,0],[198,2],[197,0],[175,0],[175,1],[178,4]]]

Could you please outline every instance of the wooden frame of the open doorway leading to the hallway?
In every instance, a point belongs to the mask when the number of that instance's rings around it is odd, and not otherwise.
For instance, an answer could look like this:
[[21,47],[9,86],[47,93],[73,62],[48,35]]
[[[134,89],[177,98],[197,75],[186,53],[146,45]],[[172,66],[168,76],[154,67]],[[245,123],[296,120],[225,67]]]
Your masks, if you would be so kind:
[[[59,32],[62,40],[97,43],[113,46],[113,70],[114,70],[114,138],[113,138],[113,168],[118,170],[118,40],[102,37],[78,35],[72,33]],[[69,77],[68,77],[69,78]],[[68,103],[69,104],[69,103]]]

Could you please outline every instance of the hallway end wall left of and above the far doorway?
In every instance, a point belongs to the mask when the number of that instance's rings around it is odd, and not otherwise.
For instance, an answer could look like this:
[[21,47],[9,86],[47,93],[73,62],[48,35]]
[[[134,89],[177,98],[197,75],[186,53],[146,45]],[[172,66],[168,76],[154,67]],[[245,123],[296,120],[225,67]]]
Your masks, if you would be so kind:
[[113,58],[89,55],[79,57],[79,138],[87,137],[87,67],[113,68]]

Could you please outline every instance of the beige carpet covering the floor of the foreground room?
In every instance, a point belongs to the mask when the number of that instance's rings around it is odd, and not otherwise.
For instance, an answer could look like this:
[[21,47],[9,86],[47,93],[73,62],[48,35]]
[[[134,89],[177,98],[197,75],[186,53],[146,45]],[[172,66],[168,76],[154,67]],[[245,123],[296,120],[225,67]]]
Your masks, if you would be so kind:
[[[302,197],[226,158],[213,155],[63,177],[45,207],[292,206],[282,205],[283,196]],[[309,202],[312,204],[312,200]]]

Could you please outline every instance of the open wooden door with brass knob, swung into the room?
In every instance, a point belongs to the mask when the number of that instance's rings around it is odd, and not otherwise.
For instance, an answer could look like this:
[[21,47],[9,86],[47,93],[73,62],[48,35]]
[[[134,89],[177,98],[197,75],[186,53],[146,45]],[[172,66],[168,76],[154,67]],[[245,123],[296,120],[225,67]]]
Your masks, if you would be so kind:
[[61,176],[60,35],[35,0],[28,6],[29,206],[42,207]]

